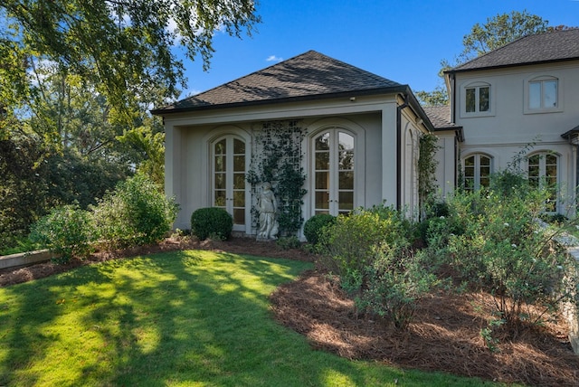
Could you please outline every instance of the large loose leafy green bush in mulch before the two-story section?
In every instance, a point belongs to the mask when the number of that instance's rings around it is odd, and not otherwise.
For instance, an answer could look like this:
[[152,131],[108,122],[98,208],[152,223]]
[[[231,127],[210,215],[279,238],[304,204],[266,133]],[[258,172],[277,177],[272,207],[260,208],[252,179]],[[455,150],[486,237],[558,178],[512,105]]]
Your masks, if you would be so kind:
[[527,306],[556,309],[576,288],[569,283],[576,278],[565,276],[576,261],[555,242],[559,231],[537,222],[549,197],[546,190],[520,184],[457,193],[451,201],[464,227],[449,238],[451,265],[470,287],[493,295],[498,315],[511,329],[528,318]]

